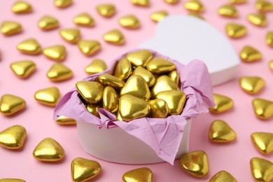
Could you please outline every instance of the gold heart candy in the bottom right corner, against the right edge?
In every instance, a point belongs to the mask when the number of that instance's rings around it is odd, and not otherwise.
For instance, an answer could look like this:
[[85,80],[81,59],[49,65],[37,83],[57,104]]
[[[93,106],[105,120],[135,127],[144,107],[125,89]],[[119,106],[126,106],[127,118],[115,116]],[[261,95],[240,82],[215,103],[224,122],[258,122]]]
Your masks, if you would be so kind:
[[251,173],[257,181],[272,181],[273,162],[262,158],[251,159]]

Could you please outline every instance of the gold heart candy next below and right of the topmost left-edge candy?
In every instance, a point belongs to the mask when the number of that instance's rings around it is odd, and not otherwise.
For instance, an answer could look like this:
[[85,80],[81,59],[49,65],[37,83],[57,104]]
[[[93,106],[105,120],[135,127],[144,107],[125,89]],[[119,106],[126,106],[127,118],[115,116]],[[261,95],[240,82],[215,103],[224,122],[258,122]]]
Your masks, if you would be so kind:
[[17,49],[27,55],[39,55],[41,53],[41,45],[34,39],[29,38],[17,45]]

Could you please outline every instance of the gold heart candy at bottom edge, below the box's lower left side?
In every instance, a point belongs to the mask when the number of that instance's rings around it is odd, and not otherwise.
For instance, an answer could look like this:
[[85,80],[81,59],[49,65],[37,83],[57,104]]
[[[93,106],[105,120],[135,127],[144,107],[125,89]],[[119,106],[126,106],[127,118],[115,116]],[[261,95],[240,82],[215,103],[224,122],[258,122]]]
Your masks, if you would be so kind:
[[99,162],[84,158],[75,158],[71,162],[71,178],[73,182],[88,181],[97,176],[102,170]]

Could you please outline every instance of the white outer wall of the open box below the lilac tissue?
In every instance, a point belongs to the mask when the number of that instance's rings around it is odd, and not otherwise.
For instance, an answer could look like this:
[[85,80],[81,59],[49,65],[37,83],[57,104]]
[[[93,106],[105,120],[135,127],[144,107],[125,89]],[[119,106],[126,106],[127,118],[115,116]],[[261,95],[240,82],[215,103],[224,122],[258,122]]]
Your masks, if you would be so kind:
[[[190,120],[183,131],[183,138],[176,159],[188,153]],[[121,164],[140,165],[165,162],[156,155],[150,146],[127,134],[120,127],[101,130],[97,125],[77,121],[78,140],[85,152],[90,155]]]

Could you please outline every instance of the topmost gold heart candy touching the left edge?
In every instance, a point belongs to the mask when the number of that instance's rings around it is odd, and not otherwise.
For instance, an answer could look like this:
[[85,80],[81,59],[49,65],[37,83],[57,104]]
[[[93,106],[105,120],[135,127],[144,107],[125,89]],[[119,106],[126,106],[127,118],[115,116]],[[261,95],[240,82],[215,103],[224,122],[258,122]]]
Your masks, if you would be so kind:
[[5,36],[12,36],[22,32],[22,26],[18,22],[4,21],[1,24],[1,32]]

